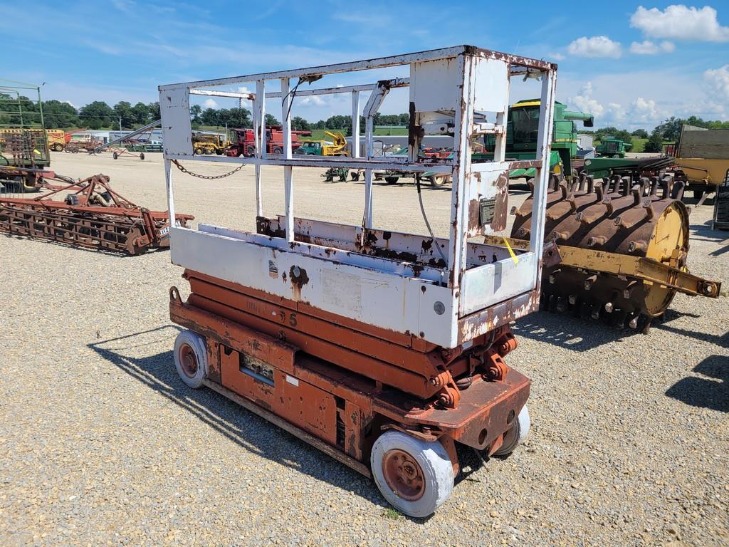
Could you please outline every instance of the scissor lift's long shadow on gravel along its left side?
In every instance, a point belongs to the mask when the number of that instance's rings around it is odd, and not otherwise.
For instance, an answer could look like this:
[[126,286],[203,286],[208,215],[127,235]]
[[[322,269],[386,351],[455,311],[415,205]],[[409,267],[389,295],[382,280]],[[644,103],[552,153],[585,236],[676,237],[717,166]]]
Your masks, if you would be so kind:
[[[340,489],[354,492],[374,505],[380,506],[383,514],[386,509],[391,508],[381,497],[373,481],[217,392],[211,389],[187,387],[177,375],[171,350],[149,355],[144,354],[144,349],[141,349],[160,343],[171,347],[174,341],[173,335],[180,330],[182,330],[180,327],[166,325],[120,338],[98,341],[88,344],[88,347],[182,410],[194,414],[242,449],[306,473]],[[137,357],[139,354],[143,356]],[[483,465],[483,462],[472,462],[469,466],[472,469],[471,473],[480,468],[480,465]],[[471,473],[464,474],[461,480],[468,480]],[[430,517],[414,519],[402,516],[419,524],[430,519]]]

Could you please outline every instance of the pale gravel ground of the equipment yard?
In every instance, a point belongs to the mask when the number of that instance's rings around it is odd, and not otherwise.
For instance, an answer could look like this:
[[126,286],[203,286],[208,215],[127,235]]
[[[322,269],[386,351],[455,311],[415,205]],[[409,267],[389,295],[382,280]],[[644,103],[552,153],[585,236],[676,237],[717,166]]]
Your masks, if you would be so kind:
[[[53,160],[163,208],[161,158],[150,156]],[[252,228],[251,171],[178,174],[179,212]],[[361,184],[295,179],[297,214],[360,222]],[[267,182],[266,213],[283,210],[281,187]],[[448,192],[424,199],[442,232]],[[378,187],[375,204],[383,228],[424,233],[412,185]],[[690,266],[726,281],[729,233],[709,230],[710,215],[691,216]],[[729,544],[726,297],[679,295],[649,335],[555,314],[519,321],[508,362],[533,381],[529,441],[467,476],[432,518],[409,519],[353,470],[184,386],[167,314],[168,287],[184,284],[166,252],[3,236],[0,260],[3,546]]]

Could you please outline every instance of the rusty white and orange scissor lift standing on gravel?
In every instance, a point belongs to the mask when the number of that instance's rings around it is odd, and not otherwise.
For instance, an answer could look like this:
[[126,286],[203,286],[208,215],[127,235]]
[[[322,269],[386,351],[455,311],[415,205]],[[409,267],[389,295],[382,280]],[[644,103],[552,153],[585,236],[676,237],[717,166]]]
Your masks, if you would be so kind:
[[[409,68],[410,77],[312,85],[328,74],[390,67],[400,76]],[[552,63],[458,46],[160,86],[171,215],[172,161],[250,163],[256,172],[255,233],[171,228],[171,260],[185,268],[191,289],[185,302],[170,290],[171,319],[188,329],[174,347],[182,379],[372,476],[411,516],[429,515],[451,494],[456,443],[510,454],[529,430],[530,382],[504,356],[516,347],[509,323],[539,306],[555,76]],[[537,160],[504,158],[510,77],[541,78]],[[255,93],[220,89],[244,84]],[[374,116],[389,90],[403,87],[408,156],[375,156]],[[293,98],[332,93],[351,94],[352,155],[292,155]],[[359,157],[367,93],[367,153]],[[194,155],[190,94],[251,100],[254,157]],[[265,97],[281,100],[281,155],[265,153]],[[494,161],[471,163],[472,140],[484,133],[496,136]],[[452,135],[452,157],[421,158],[426,134]],[[284,167],[281,216],[262,214],[261,166]],[[293,167],[363,170],[362,225],[296,217]],[[520,167],[538,176],[529,247],[515,249],[494,234],[506,227],[509,171]],[[375,228],[373,170],[383,169],[452,177],[448,239]]]

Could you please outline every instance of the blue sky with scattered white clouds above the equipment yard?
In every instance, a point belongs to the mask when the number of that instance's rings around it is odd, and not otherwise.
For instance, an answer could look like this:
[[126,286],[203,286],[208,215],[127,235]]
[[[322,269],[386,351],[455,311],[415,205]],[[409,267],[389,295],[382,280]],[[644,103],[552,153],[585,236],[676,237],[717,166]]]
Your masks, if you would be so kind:
[[[712,1],[14,2],[2,7],[0,77],[113,105],[155,101],[163,83],[473,44],[556,61],[558,99],[597,126],[727,120],[729,2]],[[346,113],[341,101],[296,107],[309,120]]]

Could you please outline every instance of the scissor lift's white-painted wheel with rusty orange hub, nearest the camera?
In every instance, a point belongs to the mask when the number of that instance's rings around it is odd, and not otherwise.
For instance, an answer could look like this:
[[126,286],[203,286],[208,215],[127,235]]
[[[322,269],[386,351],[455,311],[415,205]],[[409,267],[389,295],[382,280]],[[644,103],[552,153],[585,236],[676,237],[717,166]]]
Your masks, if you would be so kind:
[[453,462],[438,441],[386,431],[372,447],[370,466],[383,497],[409,516],[432,515],[453,492]]

